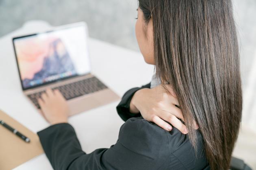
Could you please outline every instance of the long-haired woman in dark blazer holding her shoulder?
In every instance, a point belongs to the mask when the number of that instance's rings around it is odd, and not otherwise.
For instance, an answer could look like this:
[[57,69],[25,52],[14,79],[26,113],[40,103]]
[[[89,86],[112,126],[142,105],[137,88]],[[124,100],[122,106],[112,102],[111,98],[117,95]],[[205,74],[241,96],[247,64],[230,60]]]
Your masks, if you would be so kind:
[[137,41],[155,77],[117,106],[126,121],[117,143],[90,154],[67,123],[59,91],[43,94],[53,125],[38,134],[53,168],[227,170],[242,110],[232,12],[231,0],[139,0]]

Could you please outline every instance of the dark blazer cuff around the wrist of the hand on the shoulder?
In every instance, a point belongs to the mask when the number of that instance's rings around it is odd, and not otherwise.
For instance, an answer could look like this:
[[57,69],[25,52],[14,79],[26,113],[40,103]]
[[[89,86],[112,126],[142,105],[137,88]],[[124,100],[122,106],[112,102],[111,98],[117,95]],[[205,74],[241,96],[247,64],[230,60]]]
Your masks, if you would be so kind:
[[126,91],[126,93],[121,99],[121,102],[117,105],[117,113],[121,117],[121,119],[123,119],[124,121],[127,121],[131,117],[141,117],[140,113],[137,113],[137,114],[130,113],[130,102],[135,92],[143,88],[150,88],[150,83],[148,83],[147,85],[143,85],[141,87],[135,87]]

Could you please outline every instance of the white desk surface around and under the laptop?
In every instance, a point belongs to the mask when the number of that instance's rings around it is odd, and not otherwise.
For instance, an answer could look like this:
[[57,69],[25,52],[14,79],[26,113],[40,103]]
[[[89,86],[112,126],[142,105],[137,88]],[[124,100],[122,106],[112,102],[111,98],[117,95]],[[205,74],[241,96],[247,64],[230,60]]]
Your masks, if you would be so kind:
[[[44,21],[30,21],[22,28],[0,38],[0,109],[35,133],[49,124],[22,93],[12,37],[49,28],[51,26]],[[151,80],[154,67],[145,64],[143,56],[138,52],[92,38],[89,40],[89,50],[93,74],[120,96],[129,88],[146,84]],[[118,102],[114,102],[69,118],[69,123],[74,126],[85,152],[90,153],[95,149],[108,148],[115,144],[119,128],[124,123],[115,110],[117,104]],[[45,154],[15,168],[34,169],[52,169]]]

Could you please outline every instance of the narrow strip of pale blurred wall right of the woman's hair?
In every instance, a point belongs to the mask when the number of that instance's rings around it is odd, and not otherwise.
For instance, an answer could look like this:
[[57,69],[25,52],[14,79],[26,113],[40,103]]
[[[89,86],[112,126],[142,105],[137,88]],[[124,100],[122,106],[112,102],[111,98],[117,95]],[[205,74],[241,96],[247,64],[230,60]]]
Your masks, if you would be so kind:
[[[240,39],[241,67],[244,87],[256,57],[256,0],[233,0],[234,15]],[[256,66],[254,66],[256,67]]]

